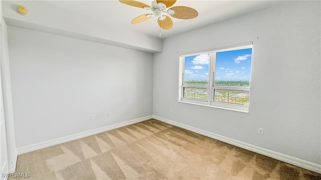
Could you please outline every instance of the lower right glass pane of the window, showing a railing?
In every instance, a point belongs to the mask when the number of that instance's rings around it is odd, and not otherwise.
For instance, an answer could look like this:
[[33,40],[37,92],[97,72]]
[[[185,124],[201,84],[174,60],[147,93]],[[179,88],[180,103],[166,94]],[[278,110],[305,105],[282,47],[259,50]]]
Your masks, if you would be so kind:
[[248,105],[249,91],[214,89],[214,101]]

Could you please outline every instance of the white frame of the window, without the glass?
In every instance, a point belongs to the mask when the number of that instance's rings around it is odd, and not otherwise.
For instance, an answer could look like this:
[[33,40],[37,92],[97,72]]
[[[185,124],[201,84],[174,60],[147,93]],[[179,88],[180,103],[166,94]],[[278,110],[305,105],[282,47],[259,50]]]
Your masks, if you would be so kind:
[[[193,52],[185,52],[180,54],[180,64],[179,64],[179,102],[203,105],[227,110],[235,110],[240,112],[249,112],[249,103],[248,105],[233,104],[226,102],[214,101],[214,90],[215,89],[226,89],[226,90],[247,90],[249,91],[250,96],[250,86],[221,86],[215,85],[215,61],[216,61],[216,52],[237,50],[244,48],[253,48],[253,42],[244,42],[240,44],[233,44],[228,46],[216,47],[206,50],[197,50]],[[197,85],[197,84],[184,84],[185,79],[185,56],[199,55],[209,53],[209,72],[208,72],[208,84],[207,85]],[[253,57],[253,51],[252,51]],[[253,58],[252,58],[253,59]],[[252,65],[251,65],[252,68]],[[252,69],[251,69],[252,70]],[[252,74],[252,73],[251,73]],[[251,81],[251,79],[250,79]],[[184,97],[184,87],[196,87],[196,88],[207,88],[207,99],[194,99]],[[250,100],[250,97],[249,97]]]

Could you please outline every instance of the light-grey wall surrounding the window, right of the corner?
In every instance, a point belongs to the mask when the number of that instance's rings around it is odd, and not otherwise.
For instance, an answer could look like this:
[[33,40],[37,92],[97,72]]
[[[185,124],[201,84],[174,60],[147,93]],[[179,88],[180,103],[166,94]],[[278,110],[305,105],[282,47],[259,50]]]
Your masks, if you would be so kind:
[[[178,102],[181,52],[245,41],[253,41],[249,113]],[[290,1],[165,39],[153,55],[153,114],[321,164],[320,58],[320,1]]]

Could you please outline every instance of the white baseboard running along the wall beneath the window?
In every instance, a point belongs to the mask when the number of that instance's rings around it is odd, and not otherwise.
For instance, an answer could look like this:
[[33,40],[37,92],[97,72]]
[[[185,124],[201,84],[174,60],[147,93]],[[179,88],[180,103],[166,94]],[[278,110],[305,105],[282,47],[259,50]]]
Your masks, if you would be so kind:
[[156,115],[153,115],[152,117],[154,119],[157,119],[157,120],[160,120],[160,121],[163,121],[163,122],[166,122],[166,123],[178,126],[178,127],[182,127],[184,129],[188,129],[188,130],[191,130],[193,132],[196,132],[196,133],[199,133],[199,134],[202,134],[202,135],[205,135],[205,136],[208,136],[208,137],[211,137],[211,138],[214,138],[214,139],[217,139],[217,140],[220,140],[220,141],[223,141],[223,142],[226,142],[226,143],[229,143],[229,144],[232,144],[232,145],[235,145],[235,146],[238,146],[238,147],[253,151],[253,152],[257,152],[259,154],[263,154],[263,155],[266,155],[268,157],[272,157],[272,158],[281,160],[283,162],[287,162],[287,163],[290,163],[290,164],[293,164],[293,165],[296,165],[296,166],[299,166],[299,167],[302,167],[302,168],[305,168],[305,169],[308,169],[308,170],[311,170],[311,171],[314,171],[314,172],[317,172],[317,173],[321,173],[321,165],[320,164],[316,164],[316,163],[309,162],[309,161],[306,161],[306,160],[303,160],[303,159],[299,159],[299,158],[296,158],[296,157],[292,157],[292,156],[289,156],[289,155],[286,155],[286,154],[275,152],[275,151],[272,151],[272,150],[269,150],[269,149],[266,149],[266,148],[262,148],[262,147],[259,147],[259,146],[255,146],[255,145],[252,145],[252,144],[249,144],[249,143],[245,143],[245,142],[242,142],[242,141],[238,141],[238,140],[235,140],[235,139],[232,139],[232,138],[229,138],[229,137],[225,137],[225,136],[222,136],[222,135],[219,135],[219,134],[215,134],[215,133],[212,133],[212,132],[209,132],[209,131],[206,131],[206,130],[202,130],[202,129],[195,128],[195,127],[192,127],[192,126],[189,126],[189,125],[185,125],[185,124],[182,124],[182,123],[179,123],[179,122],[176,122],[176,121],[173,121],[173,120],[169,120],[169,119],[166,119],[166,118],[163,118],[163,117],[159,117],[159,116],[156,116]]

